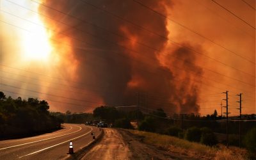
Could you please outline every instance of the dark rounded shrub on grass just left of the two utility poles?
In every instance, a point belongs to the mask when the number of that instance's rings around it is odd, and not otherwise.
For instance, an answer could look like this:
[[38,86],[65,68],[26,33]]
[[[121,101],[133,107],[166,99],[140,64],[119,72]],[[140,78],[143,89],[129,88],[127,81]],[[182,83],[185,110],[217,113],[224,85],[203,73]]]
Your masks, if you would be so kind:
[[203,143],[205,145],[213,146],[218,143],[217,138],[214,134],[214,132],[211,131],[211,129],[207,127],[203,127],[200,129],[202,134],[200,138],[200,143]]

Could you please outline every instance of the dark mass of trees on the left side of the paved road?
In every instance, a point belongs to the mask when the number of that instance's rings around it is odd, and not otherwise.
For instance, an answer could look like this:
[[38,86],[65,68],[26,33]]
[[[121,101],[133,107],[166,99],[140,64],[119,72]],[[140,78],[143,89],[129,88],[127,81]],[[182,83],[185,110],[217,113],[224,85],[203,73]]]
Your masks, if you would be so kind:
[[18,138],[60,129],[62,120],[49,113],[45,100],[13,99],[0,92],[0,139]]

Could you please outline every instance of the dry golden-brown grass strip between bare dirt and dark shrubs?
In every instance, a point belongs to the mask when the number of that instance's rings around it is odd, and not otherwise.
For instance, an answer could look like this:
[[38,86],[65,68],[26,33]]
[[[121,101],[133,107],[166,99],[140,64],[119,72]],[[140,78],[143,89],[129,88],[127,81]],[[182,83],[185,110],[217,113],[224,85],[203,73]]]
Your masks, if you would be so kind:
[[138,136],[143,136],[143,141],[145,141],[145,143],[164,148],[176,154],[191,156],[196,159],[246,159],[246,150],[237,147],[227,148],[223,145],[208,147],[200,143],[181,140],[173,136],[134,130],[129,130],[129,132]]

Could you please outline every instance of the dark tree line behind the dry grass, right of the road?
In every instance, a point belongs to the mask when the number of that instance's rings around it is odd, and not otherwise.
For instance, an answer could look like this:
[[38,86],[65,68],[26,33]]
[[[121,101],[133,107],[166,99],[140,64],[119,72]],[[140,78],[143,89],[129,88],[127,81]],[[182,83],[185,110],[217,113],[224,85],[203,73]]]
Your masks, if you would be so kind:
[[[183,115],[174,114],[172,118],[164,112],[163,109],[155,109],[148,113],[134,109],[132,111],[122,111],[111,106],[100,106],[93,110],[93,113],[54,113],[67,123],[85,123],[97,124],[99,120],[105,120],[108,124],[113,124],[116,128],[139,129],[140,131],[156,132],[159,134],[168,134],[188,141],[195,141],[205,145],[213,146],[217,143],[226,144],[225,138],[220,140],[216,133],[226,132],[225,117],[218,116],[216,110],[212,115],[200,116],[194,113]],[[255,120],[255,115],[246,115],[244,120]],[[132,125],[137,124],[139,125]],[[229,144],[239,145],[239,136],[237,136],[239,122],[229,122]],[[255,151],[256,141],[256,122],[241,122],[241,132],[243,146]],[[225,136],[225,135],[224,135]],[[254,145],[253,145],[254,144]]]

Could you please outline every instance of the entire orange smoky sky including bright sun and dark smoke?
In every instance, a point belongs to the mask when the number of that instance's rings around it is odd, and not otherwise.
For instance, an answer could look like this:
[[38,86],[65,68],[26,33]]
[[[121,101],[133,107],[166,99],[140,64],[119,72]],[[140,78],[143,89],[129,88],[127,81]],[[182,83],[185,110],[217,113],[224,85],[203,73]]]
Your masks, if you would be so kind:
[[220,115],[228,90],[231,115],[238,93],[256,113],[253,0],[0,3],[6,95],[84,112],[147,92],[145,108]]

